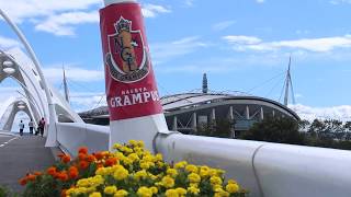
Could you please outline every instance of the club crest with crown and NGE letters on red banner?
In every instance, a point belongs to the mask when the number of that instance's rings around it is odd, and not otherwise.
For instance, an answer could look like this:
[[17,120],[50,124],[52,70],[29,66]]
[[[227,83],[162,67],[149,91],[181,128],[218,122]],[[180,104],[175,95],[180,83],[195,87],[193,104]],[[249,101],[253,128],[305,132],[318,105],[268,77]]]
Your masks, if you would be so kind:
[[109,53],[105,56],[111,77],[132,83],[149,72],[147,50],[140,30],[132,30],[132,21],[123,16],[114,23],[115,33],[107,36]]

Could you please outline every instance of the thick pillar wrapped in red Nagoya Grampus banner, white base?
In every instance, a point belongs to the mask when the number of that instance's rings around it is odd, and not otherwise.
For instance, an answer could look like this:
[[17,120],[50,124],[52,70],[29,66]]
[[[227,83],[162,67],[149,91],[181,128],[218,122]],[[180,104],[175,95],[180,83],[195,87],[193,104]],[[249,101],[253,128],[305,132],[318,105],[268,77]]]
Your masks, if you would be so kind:
[[100,28],[110,111],[110,149],[131,139],[152,150],[157,132],[168,131],[157,91],[140,5],[104,0]]

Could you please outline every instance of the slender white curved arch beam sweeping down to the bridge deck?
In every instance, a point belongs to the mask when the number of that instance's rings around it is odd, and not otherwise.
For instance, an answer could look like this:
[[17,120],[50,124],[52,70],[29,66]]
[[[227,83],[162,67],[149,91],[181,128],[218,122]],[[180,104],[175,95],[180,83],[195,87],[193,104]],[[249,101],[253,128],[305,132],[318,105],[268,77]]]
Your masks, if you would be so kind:
[[48,129],[47,129],[47,139],[46,139],[46,143],[45,147],[57,147],[57,131],[56,131],[56,121],[57,121],[57,116],[56,116],[56,111],[55,111],[55,105],[53,103],[52,100],[52,94],[50,91],[48,89],[47,82],[44,78],[43,71],[42,71],[42,67],[39,61],[37,60],[33,49],[31,48],[30,44],[27,43],[26,38],[24,37],[24,35],[22,34],[22,32],[20,31],[20,28],[10,20],[10,18],[0,9],[0,14],[2,15],[2,18],[8,22],[8,24],[11,26],[11,28],[15,32],[15,34],[19,36],[20,40],[22,42],[22,44],[24,45],[25,49],[27,50],[32,61],[34,62],[34,66],[39,74],[41,81],[43,83],[43,88],[45,91],[45,95],[47,99],[47,103],[48,103],[48,112],[49,112],[49,117],[48,119],[46,119],[46,121],[48,123]]

